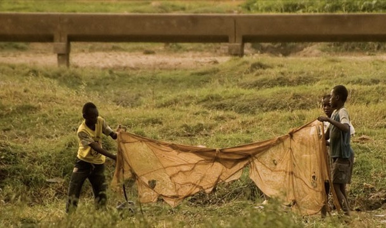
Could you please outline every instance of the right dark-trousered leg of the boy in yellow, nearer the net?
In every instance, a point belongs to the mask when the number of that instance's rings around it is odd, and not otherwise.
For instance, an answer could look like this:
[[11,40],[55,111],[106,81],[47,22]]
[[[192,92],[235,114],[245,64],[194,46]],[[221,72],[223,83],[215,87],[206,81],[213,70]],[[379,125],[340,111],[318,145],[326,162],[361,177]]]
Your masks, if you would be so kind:
[[98,208],[104,208],[107,202],[106,196],[106,177],[105,177],[105,165],[93,165],[93,171],[91,172],[90,177],[88,177],[90,183],[93,187],[94,197],[95,197],[95,206]]

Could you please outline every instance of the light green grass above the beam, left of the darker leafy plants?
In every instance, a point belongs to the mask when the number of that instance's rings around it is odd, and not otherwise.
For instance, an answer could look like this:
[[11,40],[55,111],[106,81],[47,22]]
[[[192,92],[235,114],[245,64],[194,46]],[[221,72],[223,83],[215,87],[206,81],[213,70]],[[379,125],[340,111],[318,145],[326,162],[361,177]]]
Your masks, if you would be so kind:
[[3,0],[2,12],[231,13],[242,1]]

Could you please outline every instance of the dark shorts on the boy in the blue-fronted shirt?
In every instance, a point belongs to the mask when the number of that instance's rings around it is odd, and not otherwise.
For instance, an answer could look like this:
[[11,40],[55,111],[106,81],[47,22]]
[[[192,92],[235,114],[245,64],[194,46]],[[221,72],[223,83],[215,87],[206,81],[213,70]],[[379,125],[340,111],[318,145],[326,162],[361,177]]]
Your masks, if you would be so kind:
[[354,155],[350,158],[333,158],[332,162],[332,183],[350,184]]

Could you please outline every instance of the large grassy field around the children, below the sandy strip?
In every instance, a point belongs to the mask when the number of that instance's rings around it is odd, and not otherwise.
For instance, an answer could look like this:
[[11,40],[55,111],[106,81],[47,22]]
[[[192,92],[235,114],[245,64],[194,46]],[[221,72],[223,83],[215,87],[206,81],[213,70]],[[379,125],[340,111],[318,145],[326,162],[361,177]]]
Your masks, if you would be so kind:
[[[95,102],[115,128],[188,145],[229,147],[289,132],[322,115],[319,100],[337,84],[350,92],[347,108],[356,128],[352,209],[382,206],[385,191],[386,66],[366,59],[232,58],[195,70],[122,70],[0,65],[1,226],[88,227],[344,227],[332,216],[302,218],[278,203],[254,208],[264,195],[247,175],[199,193],[176,208],[162,201],[120,219],[123,196],[108,192],[107,211],[94,211],[86,182],[77,214],[64,214],[65,194],[76,157],[81,107]],[[113,140],[105,148],[116,150]],[[114,164],[107,162],[109,178]],[[372,186],[372,187],[369,187]],[[136,199],[135,189],[129,190]],[[272,199],[271,199],[272,201]],[[379,202],[376,204],[376,202]],[[138,204],[137,204],[138,206]],[[210,225],[210,222],[212,225]],[[354,227],[381,223],[357,214]]]

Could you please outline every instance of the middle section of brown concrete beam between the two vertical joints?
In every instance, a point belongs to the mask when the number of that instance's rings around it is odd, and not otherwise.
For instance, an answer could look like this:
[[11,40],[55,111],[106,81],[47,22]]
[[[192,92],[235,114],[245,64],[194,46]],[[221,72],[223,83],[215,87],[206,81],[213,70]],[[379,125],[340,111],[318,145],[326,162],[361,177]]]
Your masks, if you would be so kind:
[[66,14],[69,41],[234,42],[234,20],[224,15]]

